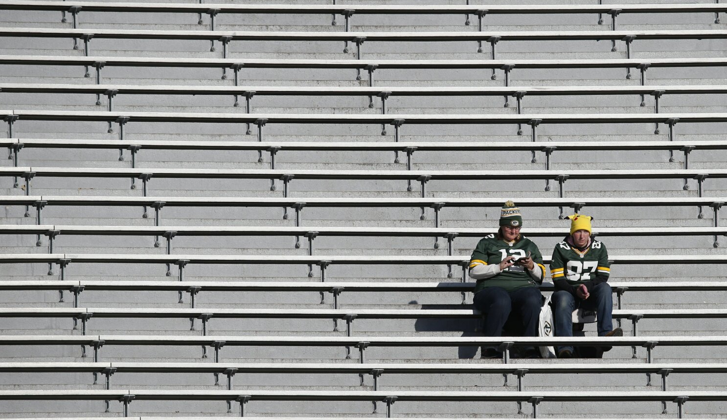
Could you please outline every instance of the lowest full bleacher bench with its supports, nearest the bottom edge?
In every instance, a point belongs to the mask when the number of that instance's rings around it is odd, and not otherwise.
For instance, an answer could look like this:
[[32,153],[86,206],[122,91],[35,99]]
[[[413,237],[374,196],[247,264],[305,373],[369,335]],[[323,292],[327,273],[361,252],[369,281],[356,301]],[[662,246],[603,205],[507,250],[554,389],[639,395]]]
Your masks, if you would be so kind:
[[239,401],[240,414],[249,401],[382,401],[387,405],[387,417],[392,416],[395,402],[405,401],[499,401],[521,402],[533,405],[533,417],[538,417],[542,402],[613,401],[647,402],[673,401],[678,404],[678,417],[683,416],[686,401],[727,401],[723,391],[651,391],[651,392],[560,392],[560,391],[310,391],[310,390],[256,390],[202,391],[193,389],[119,389],[119,390],[0,390],[0,400],[119,400],[124,403],[124,416],[134,400],[170,401]]

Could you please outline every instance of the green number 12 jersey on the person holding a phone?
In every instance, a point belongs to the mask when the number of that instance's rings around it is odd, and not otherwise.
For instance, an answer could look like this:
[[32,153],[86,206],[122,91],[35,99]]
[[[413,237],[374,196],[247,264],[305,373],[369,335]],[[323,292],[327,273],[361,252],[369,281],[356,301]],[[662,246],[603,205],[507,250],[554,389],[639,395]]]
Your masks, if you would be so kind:
[[[527,257],[528,254],[535,263],[535,270],[542,270],[541,278],[545,278],[545,266],[540,251],[533,241],[524,236],[521,236],[519,241],[514,243],[498,239],[494,233],[482,238],[475,246],[475,251],[473,251],[472,258],[470,258],[470,269],[480,264],[499,264],[503,259],[511,255],[519,259]],[[491,278],[477,280],[475,293],[487,287],[502,287],[507,291],[513,291],[527,286],[535,286],[535,280],[530,277],[524,267],[513,265]]]

